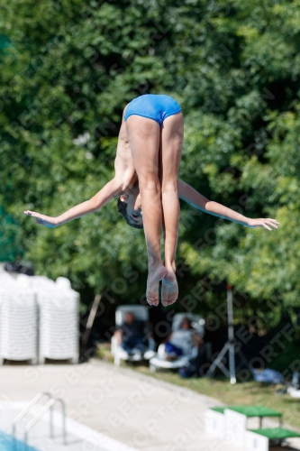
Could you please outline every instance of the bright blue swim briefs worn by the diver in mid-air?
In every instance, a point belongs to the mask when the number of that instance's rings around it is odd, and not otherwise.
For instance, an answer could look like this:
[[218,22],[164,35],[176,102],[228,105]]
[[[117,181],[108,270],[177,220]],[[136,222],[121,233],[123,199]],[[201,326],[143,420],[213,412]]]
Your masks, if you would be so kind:
[[174,98],[164,94],[145,94],[133,98],[126,108],[124,119],[126,121],[130,115],[141,115],[153,119],[161,127],[169,115],[177,115],[179,111],[181,111],[181,107]]

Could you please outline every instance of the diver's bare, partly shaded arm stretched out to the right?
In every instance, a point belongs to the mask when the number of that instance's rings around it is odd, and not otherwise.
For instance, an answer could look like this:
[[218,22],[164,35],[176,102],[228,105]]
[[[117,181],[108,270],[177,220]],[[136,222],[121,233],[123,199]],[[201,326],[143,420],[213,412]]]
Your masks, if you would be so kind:
[[223,219],[229,219],[230,221],[239,223],[243,226],[265,227],[268,230],[272,230],[271,227],[277,228],[279,224],[276,219],[271,219],[269,217],[251,219],[250,217],[243,216],[241,213],[237,213],[231,208],[224,207],[222,204],[218,204],[218,202],[205,198],[205,196],[202,196],[202,194],[198,193],[198,191],[183,180],[178,180],[178,196],[191,206],[202,210],[205,213],[222,217]]

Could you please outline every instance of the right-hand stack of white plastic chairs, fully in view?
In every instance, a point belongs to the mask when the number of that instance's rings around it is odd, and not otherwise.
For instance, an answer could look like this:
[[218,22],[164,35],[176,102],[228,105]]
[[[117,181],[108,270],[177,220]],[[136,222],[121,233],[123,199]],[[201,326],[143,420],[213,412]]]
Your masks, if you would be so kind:
[[68,279],[59,277],[56,283],[39,281],[40,352],[45,359],[78,362],[78,301],[77,291],[71,289]]

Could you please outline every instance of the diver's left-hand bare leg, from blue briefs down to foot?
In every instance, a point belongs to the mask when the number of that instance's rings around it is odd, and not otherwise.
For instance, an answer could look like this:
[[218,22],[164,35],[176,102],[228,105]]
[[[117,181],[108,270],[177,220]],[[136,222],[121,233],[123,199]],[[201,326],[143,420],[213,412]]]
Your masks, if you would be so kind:
[[159,183],[159,124],[138,115],[126,121],[132,161],[138,174],[142,219],[148,252],[147,300],[159,305],[159,281],[167,274],[160,255],[161,199]]

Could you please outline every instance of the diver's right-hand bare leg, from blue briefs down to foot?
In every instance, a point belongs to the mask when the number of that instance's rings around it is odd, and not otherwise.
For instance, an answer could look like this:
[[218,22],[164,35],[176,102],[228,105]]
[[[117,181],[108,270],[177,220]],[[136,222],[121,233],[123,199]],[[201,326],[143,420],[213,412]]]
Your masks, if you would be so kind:
[[182,112],[169,116],[163,123],[160,149],[160,184],[165,239],[165,267],[168,271],[162,282],[163,306],[173,304],[178,296],[175,256],[180,216],[178,199],[178,170],[184,138]]

